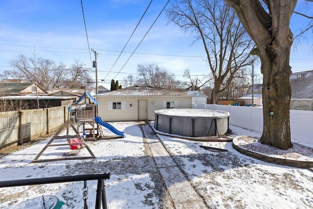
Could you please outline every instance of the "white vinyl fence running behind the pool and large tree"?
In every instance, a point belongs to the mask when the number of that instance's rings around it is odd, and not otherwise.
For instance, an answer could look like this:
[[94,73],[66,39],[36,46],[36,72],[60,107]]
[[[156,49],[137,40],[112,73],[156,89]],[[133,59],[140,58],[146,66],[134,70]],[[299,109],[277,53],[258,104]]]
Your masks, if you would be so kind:
[[[229,124],[250,131],[263,132],[263,108],[198,104],[198,109],[221,110],[229,112]],[[299,140],[313,144],[313,111],[290,110],[291,141]]]

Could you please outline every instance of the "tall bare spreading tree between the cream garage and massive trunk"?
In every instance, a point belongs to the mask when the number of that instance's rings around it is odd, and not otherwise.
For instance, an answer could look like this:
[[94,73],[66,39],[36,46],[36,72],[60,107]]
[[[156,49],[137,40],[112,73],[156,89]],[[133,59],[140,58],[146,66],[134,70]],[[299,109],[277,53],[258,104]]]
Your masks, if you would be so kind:
[[214,77],[211,103],[217,101],[237,70],[251,65],[253,42],[236,13],[220,0],[176,0],[167,16],[185,32],[201,41]]

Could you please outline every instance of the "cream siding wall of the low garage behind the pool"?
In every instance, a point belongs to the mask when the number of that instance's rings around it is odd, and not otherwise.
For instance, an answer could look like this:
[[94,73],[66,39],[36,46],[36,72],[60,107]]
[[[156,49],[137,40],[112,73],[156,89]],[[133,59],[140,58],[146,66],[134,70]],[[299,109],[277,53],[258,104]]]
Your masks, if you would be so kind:
[[[97,97],[98,116],[104,121],[132,121],[138,120],[139,100],[147,100],[147,119],[155,119],[155,111],[162,109],[163,101],[179,102],[178,108],[191,108],[190,96],[99,96]],[[126,103],[126,110],[109,110],[108,103],[122,102]],[[131,106],[132,104],[132,106]]]

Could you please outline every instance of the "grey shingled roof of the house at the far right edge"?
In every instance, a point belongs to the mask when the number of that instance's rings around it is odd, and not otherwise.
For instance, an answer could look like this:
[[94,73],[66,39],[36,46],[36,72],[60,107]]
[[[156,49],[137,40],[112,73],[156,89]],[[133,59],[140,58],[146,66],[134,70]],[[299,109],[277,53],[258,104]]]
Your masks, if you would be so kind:
[[291,99],[313,99],[313,70],[294,72],[289,80]]

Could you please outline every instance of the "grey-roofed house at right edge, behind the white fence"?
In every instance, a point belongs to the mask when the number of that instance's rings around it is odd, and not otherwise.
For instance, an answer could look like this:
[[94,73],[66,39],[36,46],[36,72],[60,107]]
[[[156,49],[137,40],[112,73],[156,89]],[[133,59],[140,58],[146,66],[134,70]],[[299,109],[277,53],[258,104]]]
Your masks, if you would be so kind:
[[292,73],[290,83],[290,109],[313,111],[313,70]]

